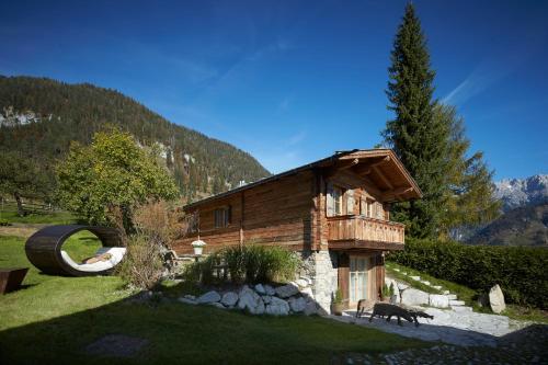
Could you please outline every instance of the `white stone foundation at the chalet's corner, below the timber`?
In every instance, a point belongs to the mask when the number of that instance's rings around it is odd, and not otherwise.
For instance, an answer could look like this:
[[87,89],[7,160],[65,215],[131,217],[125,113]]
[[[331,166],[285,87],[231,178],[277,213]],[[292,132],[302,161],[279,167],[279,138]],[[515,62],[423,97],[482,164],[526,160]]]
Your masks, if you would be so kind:
[[319,313],[331,313],[331,299],[338,288],[338,255],[328,250],[302,251],[301,276],[312,281],[312,293]]

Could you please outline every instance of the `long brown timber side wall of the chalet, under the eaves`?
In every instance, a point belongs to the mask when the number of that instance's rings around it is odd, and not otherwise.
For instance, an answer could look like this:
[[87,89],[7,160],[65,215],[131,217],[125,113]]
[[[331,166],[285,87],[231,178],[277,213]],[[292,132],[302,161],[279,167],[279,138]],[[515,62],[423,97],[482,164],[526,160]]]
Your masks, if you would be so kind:
[[[243,243],[310,248],[315,192],[313,173],[304,171],[199,205],[196,209],[199,237],[207,243],[205,252],[239,244],[240,235]],[[222,206],[230,206],[231,220],[228,227],[216,229],[214,210]],[[175,242],[173,249],[191,253],[191,242],[196,238],[197,235],[190,235]]]

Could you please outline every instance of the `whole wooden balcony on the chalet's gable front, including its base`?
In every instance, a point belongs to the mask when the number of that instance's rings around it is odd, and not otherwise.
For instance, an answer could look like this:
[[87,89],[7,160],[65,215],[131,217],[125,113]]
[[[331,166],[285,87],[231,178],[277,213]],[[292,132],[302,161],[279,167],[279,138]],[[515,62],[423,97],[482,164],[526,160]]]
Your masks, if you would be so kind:
[[403,250],[404,225],[364,216],[328,217],[331,249]]

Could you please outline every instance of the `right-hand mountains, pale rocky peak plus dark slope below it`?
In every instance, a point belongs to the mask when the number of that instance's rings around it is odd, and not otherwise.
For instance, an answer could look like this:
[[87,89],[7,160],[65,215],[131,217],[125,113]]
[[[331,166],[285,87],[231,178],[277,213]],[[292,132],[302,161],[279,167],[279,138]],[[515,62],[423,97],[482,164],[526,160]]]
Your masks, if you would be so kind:
[[467,243],[548,247],[548,175],[495,183],[502,215],[477,229]]

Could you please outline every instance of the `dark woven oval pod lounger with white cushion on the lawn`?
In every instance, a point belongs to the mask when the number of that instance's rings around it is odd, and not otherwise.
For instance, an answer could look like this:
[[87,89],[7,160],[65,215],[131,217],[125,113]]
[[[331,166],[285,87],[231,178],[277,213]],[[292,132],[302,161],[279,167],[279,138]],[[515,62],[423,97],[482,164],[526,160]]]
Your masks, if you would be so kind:
[[[100,239],[103,247],[95,255],[109,253],[107,260],[77,263],[62,250],[65,241],[81,230],[88,230]],[[35,232],[26,240],[25,253],[28,261],[46,274],[89,276],[110,274],[124,258],[126,248],[116,228],[64,225],[48,226]]]

